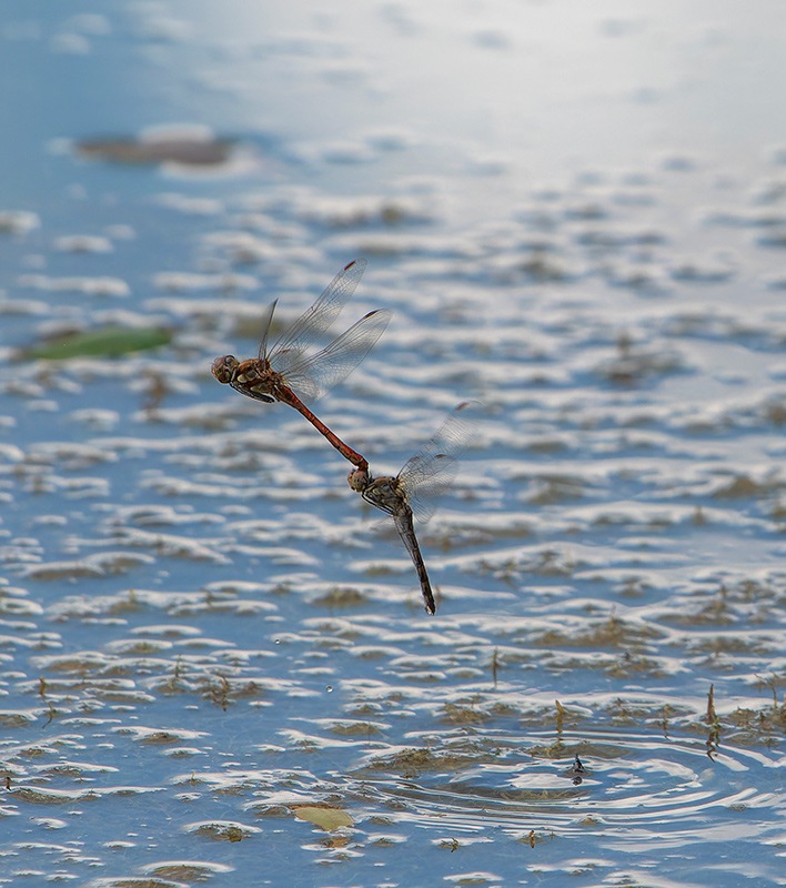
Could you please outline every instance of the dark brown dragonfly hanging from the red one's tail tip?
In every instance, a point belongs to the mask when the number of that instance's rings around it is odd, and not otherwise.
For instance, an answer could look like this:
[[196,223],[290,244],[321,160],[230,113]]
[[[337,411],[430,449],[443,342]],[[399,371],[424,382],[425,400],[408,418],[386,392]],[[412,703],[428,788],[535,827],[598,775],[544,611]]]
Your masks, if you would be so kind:
[[434,501],[451,485],[458,470],[458,455],[474,430],[467,410],[476,402],[465,401],[449,414],[436,434],[407,462],[395,477],[374,478],[367,468],[354,468],[346,481],[366,503],[393,517],[423,593],[426,614],[436,613],[434,592],[415,536],[414,519],[426,522],[434,513]]

